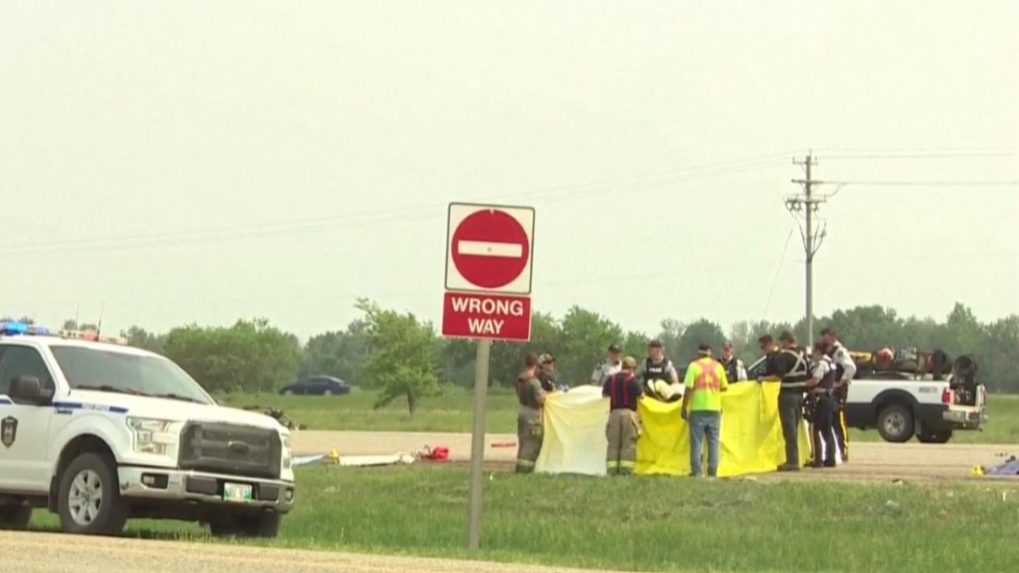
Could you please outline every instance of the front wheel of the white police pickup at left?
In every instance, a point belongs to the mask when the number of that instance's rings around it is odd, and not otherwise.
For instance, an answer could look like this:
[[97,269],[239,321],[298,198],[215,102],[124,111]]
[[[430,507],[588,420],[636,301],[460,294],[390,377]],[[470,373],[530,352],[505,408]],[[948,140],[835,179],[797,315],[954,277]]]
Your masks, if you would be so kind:
[[118,486],[116,466],[109,456],[87,452],[74,458],[60,475],[60,527],[67,533],[119,534],[127,508]]

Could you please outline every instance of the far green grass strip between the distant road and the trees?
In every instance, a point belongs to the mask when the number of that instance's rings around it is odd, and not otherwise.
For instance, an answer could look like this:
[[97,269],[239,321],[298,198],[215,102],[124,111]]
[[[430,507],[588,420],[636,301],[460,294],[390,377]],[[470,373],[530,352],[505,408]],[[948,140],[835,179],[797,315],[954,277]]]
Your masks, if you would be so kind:
[[[374,392],[358,392],[341,397],[278,396],[271,394],[226,395],[229,406],[259,405],[282,409],[287,416],[309,429],[394,430],[469,432],[473,416],[472,394],[447,387],[439,398],[421,402],[414,417],[407,404],[397,401],[380,410],[372,408]],[[1019,444],[1019,396],[994,395],[988,400],[990,421],[983,431],[959,431],[953,444]],[[511,390],[493,388],[488,396],[489,432],[513,433],[517,428],[517,399]],[[859,441],[880,441],[876,430],[853,430]]]

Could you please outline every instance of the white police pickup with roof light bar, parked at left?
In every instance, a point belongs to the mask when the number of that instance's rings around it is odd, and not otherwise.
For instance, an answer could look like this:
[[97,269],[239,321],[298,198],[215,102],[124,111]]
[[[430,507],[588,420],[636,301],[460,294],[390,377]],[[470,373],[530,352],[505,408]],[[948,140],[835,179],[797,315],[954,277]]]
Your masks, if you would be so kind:
[[294,503],[286,428],[217,406],[161,356],[24,330],[0,335],[0,528],[49,508],[72,533],[145,517],[277,534]]

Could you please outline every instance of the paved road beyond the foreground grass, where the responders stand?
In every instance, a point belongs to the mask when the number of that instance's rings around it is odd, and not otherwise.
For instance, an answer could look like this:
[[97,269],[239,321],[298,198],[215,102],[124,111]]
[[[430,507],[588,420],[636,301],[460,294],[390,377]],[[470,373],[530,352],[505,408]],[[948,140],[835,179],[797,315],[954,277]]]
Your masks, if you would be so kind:
[[[516,435],[488,434],[485,441],[486,461],[514,461]],[[471,457],[471,436],[466,433],[300,431],[294,433],[293,444],[299,454],[321,454],[330,450],[336,450],[340,456],[413,454],[425,446],[444,446],[449,448],[454,461],[463,462]],[[960,479],[969,477],[973,466],[994,466],[1002,463],[1005,455],[1019,456],[1019,445],[856,442],[851,452],[853,460],[848,465],[802,475],[844,479]]]

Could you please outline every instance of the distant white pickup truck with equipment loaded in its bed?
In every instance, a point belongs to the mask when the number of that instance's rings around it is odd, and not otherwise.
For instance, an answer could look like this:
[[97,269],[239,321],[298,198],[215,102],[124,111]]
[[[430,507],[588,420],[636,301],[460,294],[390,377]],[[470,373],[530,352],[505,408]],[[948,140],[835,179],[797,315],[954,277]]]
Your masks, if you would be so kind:
[[[763,358],[748,369],[751,378],[764,376]],[[956,430],[979,430],[987,421],[987,390],[952,376],[935,380],[897,372],[863,374],[849,384],[846,425],[876,428],[886,441],[945,444]]]

